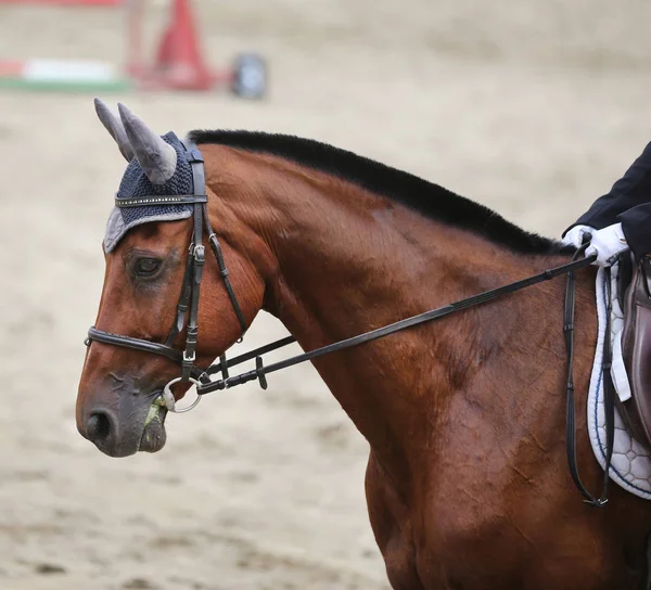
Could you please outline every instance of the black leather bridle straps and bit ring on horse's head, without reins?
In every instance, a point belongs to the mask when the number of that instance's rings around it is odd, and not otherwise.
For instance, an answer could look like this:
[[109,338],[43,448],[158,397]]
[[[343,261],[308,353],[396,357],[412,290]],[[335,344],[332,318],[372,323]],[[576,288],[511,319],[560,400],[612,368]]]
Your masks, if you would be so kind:
[[[133,350],[141,350],[144,352],[154,352],[156,355],[162,355],[169,360],[176,362],[181,367],[181,376],[171,380],[164,388],[164,400],[168,410],[170,411],[188,411],[192,409],[199,400],[201,396],[197,396],[196,401],[189,408],[184,410],[177,410],[175,408],[174,395],[171,394],[171,386],[175,383],[194,383],[194,385],[200,386],[201,384],[207,384],[210,382],[208,373],[202,371],[194,364],[194,360],[196,358],[196,339],[199,334],[199,293],[201,287],[201,280],[203,277],[203,267],[205,264],[205,248],[203,245],[203,230],[205,226],[205,230],[208,234],[208,243],[210,244],[210,249],[215,255],[217,260],[217,266],[219,267],[219,275],[224,280],[224,285],[226,286],[226,291],[233,306],[233,310],[235,316],[238,317],[238,321],[240,322],[240,329],[242,331],[242,335],[246,331],[246,323],[244,322],[244,316],[242,315],[242,309],[240,304],[238,303],[238,298],[233,292],[233,288],[230,283],[230,279],[228,275],[228,269],[226,268],[226,264],[224,261],[224,255],[221,253],[221,246],[219,245],[219,241],[217,240],[217,235],[213,231],[210,226],[210,219],[208,217],[207,211],[207,201],[208,197],[205,194],[205,174],[204,174],[204,159],[199,151],[199,148],[195,143],[183,140],[183,148],[186,149],[186,157],[188,163],[192,167],[192,181],[193,181],[193,191],[194,194],[182,194],[182,195],[148,195],[137,198],[119,198],[115,197],[115,206],[123,207],[143,207],[148,205],[152,206],[165,206],[165,205],[192,205],[192,218],[194,228],[192,230],[192,235],[190,238],[190,245],[188,247],[188,261],[186,262],[186,273],[183,275],[183,285],[181,288],[181,296],[179,298],[179,303],[177,305],[177,315],[174,324],[171,325],[171,330],[165,341],[165,344],[158,344],[151,341],[145,341],[142,338],[135,338],[131,336],[124,336],[120,334],[112,334],[111,332],[104,332],[103,330],[98,330],[92,326],[88,330],[88,337],[86,338],[86,345],[90,346],[92,341],[101,342],[103,344],[111,344],[114,346],[124,346],[125,348],[131,348]],[[173,347],[174,342],[177,336],[183,330],[186,325],[186,320],[188,325],[186,328],[186,345],[182,351],[177,350]],[[240,337],[240,341],[242,337]],[[226,360],[226,356],[222,355],[220,357],[220,364],[224,365],[225,379],[228,377],[228,362]]]

